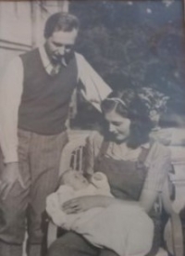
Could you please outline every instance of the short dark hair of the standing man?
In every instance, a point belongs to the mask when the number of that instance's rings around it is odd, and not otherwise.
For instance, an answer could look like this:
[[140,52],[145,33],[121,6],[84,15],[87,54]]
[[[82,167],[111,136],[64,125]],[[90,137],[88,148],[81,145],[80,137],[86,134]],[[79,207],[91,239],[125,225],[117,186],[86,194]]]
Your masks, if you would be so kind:
[[57,12],[46,20],[44,37],[49,38],[53,32],[79,30],[79,26],[79,19],[76,16],[66,12]]

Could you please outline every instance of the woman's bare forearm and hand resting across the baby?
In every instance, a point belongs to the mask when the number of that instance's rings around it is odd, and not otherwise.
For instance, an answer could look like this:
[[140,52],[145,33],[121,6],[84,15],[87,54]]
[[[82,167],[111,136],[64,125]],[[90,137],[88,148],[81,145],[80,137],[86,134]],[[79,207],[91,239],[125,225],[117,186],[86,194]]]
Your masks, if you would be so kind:
[[62,209],[67,214],[78,213],[81,211],[87,211],[94,207],[107,207],[113,201],[115,201],[114,198],[104,196],[84,196],[68,200],[63,204]]

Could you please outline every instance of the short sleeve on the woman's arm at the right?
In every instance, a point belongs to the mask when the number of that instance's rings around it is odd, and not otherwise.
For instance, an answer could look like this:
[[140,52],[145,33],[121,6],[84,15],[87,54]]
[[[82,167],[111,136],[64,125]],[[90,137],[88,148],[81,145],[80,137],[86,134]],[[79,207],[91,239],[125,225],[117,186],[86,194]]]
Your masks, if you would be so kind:
[[148,172],[144,188],[161,192],[171,170],[170,150],[159,143],[154,143],[145,164]]

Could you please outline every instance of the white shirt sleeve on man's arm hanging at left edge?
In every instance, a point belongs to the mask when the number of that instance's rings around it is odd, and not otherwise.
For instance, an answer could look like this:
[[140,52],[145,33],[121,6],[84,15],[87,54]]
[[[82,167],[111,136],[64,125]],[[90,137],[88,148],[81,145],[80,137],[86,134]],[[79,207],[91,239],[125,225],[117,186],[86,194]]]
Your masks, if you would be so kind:
[[23,67],[20,58],[7,66],[0,84],[0,145],[4,161],[18,161],[18,115],[23,86]]

